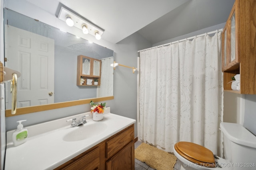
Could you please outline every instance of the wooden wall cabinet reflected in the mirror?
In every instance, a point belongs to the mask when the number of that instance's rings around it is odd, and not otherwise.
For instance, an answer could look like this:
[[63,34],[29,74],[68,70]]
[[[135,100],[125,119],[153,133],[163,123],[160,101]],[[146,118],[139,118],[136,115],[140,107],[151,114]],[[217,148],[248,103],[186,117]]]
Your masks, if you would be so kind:
[[[76,85],[77,86],[93,86],[94,81],[98,80],[96,86],[100,86],[101,76],[101,61],[98,59],[86,57],[83,55],[77,56],[77,75]],[[81,78],[84,79],[84,83],[81,84]],[[87,85],[87,79],[92,80],[92,85]]]

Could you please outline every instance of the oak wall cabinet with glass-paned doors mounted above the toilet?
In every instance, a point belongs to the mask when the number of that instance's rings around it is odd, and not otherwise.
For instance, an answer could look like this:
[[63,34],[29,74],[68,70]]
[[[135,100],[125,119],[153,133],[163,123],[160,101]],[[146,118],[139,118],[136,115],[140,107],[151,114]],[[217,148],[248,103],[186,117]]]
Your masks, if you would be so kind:
[[[236,0],[222,32],[224,90],[256,94],[256,0]],[[231,77],[240,74],[240,91]]]

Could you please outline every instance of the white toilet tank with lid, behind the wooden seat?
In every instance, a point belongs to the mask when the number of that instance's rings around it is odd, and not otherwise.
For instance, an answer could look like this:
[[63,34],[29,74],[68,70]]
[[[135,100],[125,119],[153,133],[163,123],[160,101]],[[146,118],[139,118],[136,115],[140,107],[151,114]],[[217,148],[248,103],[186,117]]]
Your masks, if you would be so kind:
[[[220,123],[224,156],[235,170],[256,169],[256,136],[237,123]],[[233,164],[232,164],[233,163]]]

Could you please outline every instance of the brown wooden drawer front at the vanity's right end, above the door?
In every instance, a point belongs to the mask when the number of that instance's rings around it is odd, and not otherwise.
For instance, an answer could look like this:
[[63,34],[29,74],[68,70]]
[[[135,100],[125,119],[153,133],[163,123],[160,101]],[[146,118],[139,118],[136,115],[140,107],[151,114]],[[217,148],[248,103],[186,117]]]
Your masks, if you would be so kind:
[[133,140],[134,125],[131,125],[106,142],[106,158],[110,158]]

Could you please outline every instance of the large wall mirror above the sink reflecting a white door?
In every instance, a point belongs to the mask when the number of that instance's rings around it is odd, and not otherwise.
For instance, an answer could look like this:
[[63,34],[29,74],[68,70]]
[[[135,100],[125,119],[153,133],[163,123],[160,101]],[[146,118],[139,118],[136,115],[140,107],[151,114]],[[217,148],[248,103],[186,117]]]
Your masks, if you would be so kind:
[[[18,109],[36,108],[34,106],[43,108],[46,104],[60,108],[53,104],[69,102],[76,105],[77,102],[74,101],[77,100],[79,104],[85,104],[91,99],[97,101],[98,98],[113,98],[113,67],[110,66],[114,63],[113,50],[6,8],[4,23],[5,66],[22,72],[22,76],[18,78]],[[100,86],[76,85],[78,55],[102,61]],[[96,61],[93,65],[93,74],[99,75],[99,63]],[[90,68],[86,67],[84,70]],[[6,109],[10,109],[10,82],[6,83],[5,89]],[[41,94],[42,97],[37,98]],[[112,97],[108,98],[109,96]],[[65,107],[69,106],[66,105]]]

